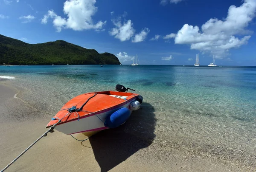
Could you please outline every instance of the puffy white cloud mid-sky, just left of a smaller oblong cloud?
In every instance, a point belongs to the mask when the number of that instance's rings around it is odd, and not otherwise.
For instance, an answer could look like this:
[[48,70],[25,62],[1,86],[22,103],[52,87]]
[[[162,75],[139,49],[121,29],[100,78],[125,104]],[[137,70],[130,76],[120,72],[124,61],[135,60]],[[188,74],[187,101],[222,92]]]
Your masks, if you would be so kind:
[[116,28],[112,28],[109,31],[109,34],[115,36],[116,39],[120,39],[120,41],[127,41],[134,35],[134,28],[132,27],[131,20],[128,20],[126,23],[121,23],[121,18],[119,17],[117,20],[112,19],[113,24]]

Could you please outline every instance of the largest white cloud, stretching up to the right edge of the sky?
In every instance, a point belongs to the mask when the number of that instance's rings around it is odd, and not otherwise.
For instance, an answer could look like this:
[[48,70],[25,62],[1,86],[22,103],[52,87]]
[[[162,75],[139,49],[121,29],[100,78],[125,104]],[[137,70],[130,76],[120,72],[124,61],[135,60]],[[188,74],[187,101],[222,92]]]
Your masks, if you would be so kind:
[[175,44],[189,44],[191,49],[223,58],[229,54],[231,48],[247,44],[252,32],[246,27],[255,17],[255,13],[256,1],[244,0],[239,7],[230,6],[223,21],[217,18],[209,19],[201,29],[198,26],[183,25],[176,34]]

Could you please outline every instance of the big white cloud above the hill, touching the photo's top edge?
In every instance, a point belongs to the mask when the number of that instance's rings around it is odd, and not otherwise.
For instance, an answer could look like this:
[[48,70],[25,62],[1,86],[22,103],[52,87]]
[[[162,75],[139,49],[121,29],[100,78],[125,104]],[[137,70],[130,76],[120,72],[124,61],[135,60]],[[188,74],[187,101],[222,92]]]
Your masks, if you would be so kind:
[[92,16],[96,13],[98,8],[94,6],[96,0],[66,0],[64,2],[63,11],[67,15],[66,18],[58,16],[53,10],[49,10],[41,23],[46,24],[48,18],[53,19],[53,25],[60,32],[63,28],[71,28],[75,31],[82,31],[87,29],[102,30],[103,25],[107,21],[94,24]]

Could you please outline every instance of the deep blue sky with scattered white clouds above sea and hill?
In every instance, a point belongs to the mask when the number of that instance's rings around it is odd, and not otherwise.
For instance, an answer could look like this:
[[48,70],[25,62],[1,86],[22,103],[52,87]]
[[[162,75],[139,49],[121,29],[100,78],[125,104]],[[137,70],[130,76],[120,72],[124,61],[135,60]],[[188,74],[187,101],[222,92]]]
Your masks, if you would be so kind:
[[142,65],[256,66],[256,0],[0,0],[0,34]]

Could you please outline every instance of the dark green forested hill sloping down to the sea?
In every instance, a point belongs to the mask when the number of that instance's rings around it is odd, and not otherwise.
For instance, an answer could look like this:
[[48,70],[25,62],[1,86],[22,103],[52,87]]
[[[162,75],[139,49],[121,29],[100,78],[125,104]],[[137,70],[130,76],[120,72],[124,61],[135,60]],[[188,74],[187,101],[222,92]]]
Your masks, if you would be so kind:
[[99,54],[63,40],[28,44],[0,34],[0,64],[9,65],[119,65],[110,53]]

